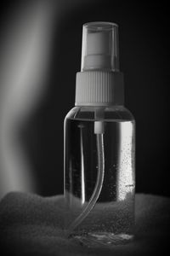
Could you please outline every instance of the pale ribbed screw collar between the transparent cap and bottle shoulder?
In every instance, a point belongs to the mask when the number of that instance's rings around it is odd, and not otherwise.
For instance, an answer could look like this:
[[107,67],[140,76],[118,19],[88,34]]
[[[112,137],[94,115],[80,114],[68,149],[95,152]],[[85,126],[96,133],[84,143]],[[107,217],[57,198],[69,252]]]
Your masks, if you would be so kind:
[[123,74],[111,71],[77,73],[76,106],[123,105]]

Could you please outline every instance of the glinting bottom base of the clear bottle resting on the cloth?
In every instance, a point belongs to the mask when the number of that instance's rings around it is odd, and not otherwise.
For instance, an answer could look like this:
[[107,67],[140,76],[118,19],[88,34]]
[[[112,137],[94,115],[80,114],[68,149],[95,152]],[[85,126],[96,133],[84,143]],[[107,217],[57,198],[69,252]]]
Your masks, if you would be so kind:
[[82,235],[72,235],[82,246],[86,247],[102,247],[111,245],[123,245],[133,241],[133,235],[129,234],[113,234],[108,232],[94,232]]

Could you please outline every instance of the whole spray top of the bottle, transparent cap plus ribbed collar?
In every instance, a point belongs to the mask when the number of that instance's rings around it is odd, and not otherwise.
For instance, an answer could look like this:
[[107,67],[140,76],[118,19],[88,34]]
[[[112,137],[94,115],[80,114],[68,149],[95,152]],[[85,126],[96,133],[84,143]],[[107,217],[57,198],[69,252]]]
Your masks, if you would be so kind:
[[123,75],[119,72],[118,26],[111,22],[84,24],[76,106],[122,105],[123,96]]

